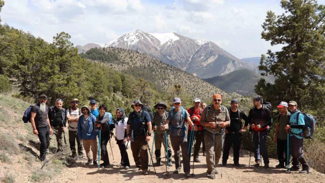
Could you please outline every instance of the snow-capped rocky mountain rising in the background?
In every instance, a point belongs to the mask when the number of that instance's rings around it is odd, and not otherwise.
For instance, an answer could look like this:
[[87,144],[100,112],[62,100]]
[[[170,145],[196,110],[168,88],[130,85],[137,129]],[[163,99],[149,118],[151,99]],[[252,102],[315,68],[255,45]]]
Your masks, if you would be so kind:
[[254,69],[253,64],[234,57],[211,41],[193,40],[177,33],[136,30],[101,46],[139,51],[200,78]]

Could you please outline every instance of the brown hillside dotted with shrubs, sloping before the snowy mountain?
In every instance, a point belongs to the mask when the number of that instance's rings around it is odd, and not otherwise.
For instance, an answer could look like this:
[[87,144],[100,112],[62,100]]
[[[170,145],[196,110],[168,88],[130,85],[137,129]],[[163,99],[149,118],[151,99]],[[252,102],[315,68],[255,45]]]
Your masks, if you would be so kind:
[[221,94],[224,98],[240,97],[238,94],[229,95],[202,79],[162,63],[162,61],[149,55],[114,47],[105,48],[105,51],[119,56],[118,61],[105,61],[103,62],[105,65],[156,83],[163,90],[168,90],[175,84],[180,84],[193,98],[201,98],[205,101],[210,101],[211,97],[216,93]]

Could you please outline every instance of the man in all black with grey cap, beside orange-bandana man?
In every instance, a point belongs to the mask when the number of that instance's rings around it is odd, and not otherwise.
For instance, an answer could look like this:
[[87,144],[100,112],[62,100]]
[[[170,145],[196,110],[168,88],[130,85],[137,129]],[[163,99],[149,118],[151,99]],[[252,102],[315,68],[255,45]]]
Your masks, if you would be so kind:
[[[238,100],[231,100],[231,109],[228,109],[230,116],[230,126],[226,127],[225,130],[225,144],[224,151],[222,155],[222,166],[227,166],[227,160],[229,157],[229,150],[234,144],[234,165],[240,166],[239,164],[239,150],[241,143],[241,133],[246,131],[247,125],[249,123],[248,117],[243,111],[238,109]],[[245,120],[244,128],[242,128],[241,120]]]

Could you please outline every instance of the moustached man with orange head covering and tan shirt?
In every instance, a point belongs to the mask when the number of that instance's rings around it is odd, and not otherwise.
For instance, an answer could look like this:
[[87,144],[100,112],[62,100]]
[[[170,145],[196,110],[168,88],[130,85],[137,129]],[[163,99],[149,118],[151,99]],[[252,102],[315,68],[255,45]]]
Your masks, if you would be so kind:
[[[221,105],[222,97],[219,94],[214,94],[212,97],[212,105],[206,107],[201,116],[201,125],[205,126],[204,140],[206,146],[206,164],[208,170],[206,171],[209,178],[214,178],[218,171],[214,170],[221,158],[221,130],[230,125],[230,117],[226,107]],[[215,139],[213,141],[213,134]],[[215,147],[214,147],[215,143]],[[213,158],[215,155],[215,158]],[[215,162],[213,162],[213,159]],[[214,171],[214,172],[213,172]]]

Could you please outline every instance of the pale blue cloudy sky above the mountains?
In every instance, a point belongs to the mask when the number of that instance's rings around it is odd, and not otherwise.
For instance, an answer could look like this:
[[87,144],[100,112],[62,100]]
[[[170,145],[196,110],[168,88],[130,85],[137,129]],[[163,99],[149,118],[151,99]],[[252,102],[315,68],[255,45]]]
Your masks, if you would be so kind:
[[47,42],[62,31],[74,45],[104,44],[136,29],[175,32],[212,41],[242,59],[281,48],[261,39],[266,11],[280,14],[279,5],[279,0],[5,0],[0,16],[2,23]]

